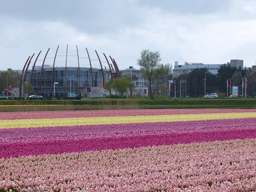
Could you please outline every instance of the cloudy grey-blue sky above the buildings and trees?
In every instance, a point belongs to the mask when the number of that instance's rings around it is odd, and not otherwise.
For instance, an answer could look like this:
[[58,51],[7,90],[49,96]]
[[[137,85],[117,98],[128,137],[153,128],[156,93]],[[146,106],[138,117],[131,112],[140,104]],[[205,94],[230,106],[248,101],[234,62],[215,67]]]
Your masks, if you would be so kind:
[[[54,57],[76,54],[120,70],[137,66],[143,49],[162,63],[256,62],[255,0],[0,0],[0,70],[22,69],[28,56],[48,48]],[[34,56],[34,57],[36,57]],[[77,58],[76,58],[77,59]],[[42,64],[42,61],[40,62]]]

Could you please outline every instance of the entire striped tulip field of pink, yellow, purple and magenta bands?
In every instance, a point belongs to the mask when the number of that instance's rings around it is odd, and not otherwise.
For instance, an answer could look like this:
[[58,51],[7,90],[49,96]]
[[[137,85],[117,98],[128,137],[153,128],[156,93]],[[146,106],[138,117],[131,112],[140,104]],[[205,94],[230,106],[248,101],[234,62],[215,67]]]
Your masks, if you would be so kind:
[[256,109],[0,112],[0,192],[255,190]]

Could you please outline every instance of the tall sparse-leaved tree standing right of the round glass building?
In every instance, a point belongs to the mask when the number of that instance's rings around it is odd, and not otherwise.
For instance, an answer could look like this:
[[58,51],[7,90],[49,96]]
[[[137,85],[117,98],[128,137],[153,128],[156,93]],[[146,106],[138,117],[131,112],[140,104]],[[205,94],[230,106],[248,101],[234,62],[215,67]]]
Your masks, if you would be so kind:
[[137,60],[142,75],[148,80],[151,99],[154,99],[152,82],[154,82],[158,76],[160,61],[160,53],[158,51],[152,52],[150,50],[142,50],[142,52],[140,52],[140,58]]

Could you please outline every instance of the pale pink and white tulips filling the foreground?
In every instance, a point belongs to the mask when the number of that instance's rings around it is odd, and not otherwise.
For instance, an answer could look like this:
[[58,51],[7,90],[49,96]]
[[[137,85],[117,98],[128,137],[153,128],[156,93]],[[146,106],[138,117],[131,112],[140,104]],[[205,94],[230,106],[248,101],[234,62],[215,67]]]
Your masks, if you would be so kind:
[[253,191],[255,143],[245,139],[2,158],[0,190]]

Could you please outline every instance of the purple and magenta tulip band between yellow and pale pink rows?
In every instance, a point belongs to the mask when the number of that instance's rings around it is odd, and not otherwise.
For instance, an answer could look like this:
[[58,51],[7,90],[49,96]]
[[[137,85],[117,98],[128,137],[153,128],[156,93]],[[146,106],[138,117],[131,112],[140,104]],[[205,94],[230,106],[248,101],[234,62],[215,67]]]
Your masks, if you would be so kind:
[[0,158],[256,138],[255,127],[256,118],[244,118],[7,129]]

